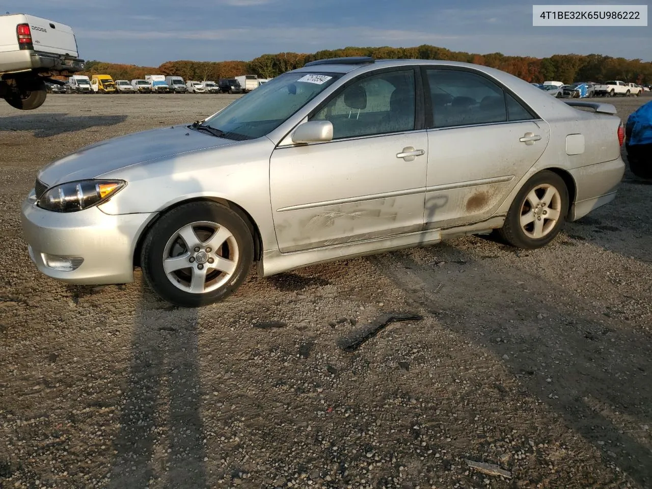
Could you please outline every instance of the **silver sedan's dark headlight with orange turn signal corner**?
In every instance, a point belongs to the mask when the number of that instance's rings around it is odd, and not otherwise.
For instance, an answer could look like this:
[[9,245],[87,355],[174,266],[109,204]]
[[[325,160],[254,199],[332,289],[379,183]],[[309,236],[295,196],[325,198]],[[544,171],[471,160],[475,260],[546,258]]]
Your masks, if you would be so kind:
[[82,180],[62,183],[43,192],[38,207],[58,213],[74,213],[108,200],[126,185],[122,180]]

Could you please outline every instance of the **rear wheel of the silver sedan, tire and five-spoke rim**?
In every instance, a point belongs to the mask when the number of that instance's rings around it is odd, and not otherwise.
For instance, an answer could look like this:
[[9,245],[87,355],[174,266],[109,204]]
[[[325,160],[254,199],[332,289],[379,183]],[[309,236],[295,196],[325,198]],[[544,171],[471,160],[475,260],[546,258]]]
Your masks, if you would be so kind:
[[499,235],[517,248],[541,248],[557,236],[568,208],[563,179],[552,171],[541,171],[516,194]]

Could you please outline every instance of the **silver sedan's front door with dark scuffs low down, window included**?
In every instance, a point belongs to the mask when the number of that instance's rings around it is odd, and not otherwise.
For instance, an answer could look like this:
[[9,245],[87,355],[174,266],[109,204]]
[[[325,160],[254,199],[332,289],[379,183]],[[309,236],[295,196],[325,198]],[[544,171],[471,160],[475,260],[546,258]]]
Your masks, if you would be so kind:
[[363,75],[310,117],[333,123],[333,141],[274,150],[270,193],[281,252],[422,229],[428,135],[415,129],[416,73]]

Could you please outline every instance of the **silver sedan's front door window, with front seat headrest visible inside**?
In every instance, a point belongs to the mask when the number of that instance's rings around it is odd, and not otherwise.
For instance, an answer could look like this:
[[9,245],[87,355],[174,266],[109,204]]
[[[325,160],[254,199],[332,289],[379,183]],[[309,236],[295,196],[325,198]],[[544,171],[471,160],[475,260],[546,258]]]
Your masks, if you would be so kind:
[[415,100],[413,70],[384,72],[352,83],[310,120],[331,121],[333,139],[408,131],[415,128]]

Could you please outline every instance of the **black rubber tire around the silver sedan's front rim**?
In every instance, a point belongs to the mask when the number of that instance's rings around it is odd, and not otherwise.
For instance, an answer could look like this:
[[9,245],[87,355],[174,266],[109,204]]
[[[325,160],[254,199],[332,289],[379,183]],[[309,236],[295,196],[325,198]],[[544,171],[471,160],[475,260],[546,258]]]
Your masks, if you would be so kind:
[[[237,244],[238,258],[233,273],[228,276],[228,280],[224,282],[224,284],[221,284],[215,290],[204,293],[191,293],[190,291],[185,291],[175,286],[163,268],[163,259],[166,254],[168,241],[171,240],[178,230],[181,230],[184,226],[194,222],[212,222],[226,227],[231,231],[231,235]],[[177,243],[177,241],[175,241],[175,243]],[[181,254],[183,253],[185,244],[183,240],[178,243],[180,244],[175,244],[175,246],[181,250]],[[224,248],[224,246],[227,246],[227,248]],[[220,246],[222,256],[224,256],[224,249],[229,250],[230,245]],[[208,252],[208,250],[206,251]],[[215,251],[216,250],[211,250],[213,253]],[[179,255],[175,254],[172,256]],[[208,256],[210,256],[210,254]],[[249,273],[253,260],[254,242],[248,225],[239,214],[235,213],[228,207],[215,202],[192,202],[176,207],[166,213],[156,221],[151,230],[147,232],[145,240],[143,241],[140,256],[140,263],[147,284],[149,284],[155,293],[162,297],[162,299],[183,307],[204,306],[225,299],[231,295],[231,293],[237,290],[243,284],[244,280],[246,280],[246,276]],[[192,276],[191,274],[188,274],[187,271],[194,266],[200,267],[200,265],[198,265],[199,258],[194,263],[195,265],[189,263],[186,269],[177,271],[180,274],[175,276],[180,276],[182,278],[184,274],[188,277]],[[177,272],[175,272],[175,274]],[[222,272],[218,271],[212,271],[210,273],[217,274],[215,280],[218,280],[220,276],[223,276]],[[192,274],[194,274],[194,271]],[[177,278],[177,282],[181,284],[179,278]]]

